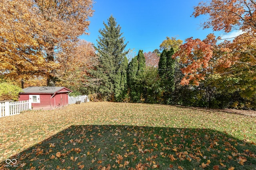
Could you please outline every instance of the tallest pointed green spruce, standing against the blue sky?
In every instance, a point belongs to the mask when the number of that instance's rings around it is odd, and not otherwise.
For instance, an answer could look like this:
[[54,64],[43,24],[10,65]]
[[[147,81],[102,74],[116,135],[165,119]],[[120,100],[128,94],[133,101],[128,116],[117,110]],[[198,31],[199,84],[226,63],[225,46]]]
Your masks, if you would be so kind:
[[95,46],[98,52],[99,64],[96,67],[96,77],[100,79],[98,92],[104,100],[117,101],[122,98],[122,90],[125,90],[126,64],[125,56],[128,51],[125,51],[123,33],[120,33],[121,27],[117,25],[116,19],[113,16],[108,18],[108,23],[103,22],[105,28],[100,29],[100,35]]

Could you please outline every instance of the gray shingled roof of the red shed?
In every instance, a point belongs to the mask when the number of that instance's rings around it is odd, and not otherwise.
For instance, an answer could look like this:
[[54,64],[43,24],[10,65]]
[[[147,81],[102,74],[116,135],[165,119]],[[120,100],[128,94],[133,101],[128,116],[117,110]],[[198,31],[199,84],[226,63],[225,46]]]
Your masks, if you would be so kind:
[[[27,87],[23,89],[21,93],[56,93],[62,90],[65,87],[51,87],[51,86],[42,86],[42,87]],[[66,88],[67,91],[70,91]]]

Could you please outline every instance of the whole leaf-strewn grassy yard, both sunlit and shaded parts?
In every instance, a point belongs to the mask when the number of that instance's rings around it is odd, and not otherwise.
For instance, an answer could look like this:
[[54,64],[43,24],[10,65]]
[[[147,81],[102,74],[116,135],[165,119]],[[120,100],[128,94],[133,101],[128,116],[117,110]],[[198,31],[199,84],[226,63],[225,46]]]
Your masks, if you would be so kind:
[[255,170],[255,143],[253,116],[89,102],[0,118],[0,169]]

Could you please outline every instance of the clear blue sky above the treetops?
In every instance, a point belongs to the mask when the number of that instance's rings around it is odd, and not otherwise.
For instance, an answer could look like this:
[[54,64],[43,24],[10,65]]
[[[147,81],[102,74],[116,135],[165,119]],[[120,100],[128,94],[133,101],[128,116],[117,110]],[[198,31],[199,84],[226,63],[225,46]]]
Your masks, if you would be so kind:
[[[121,26],[121,32],[128,42],[126,49],[137,53],[159,49],[166,37],[185,40],[189,37],[206,38],[212,29],[202,29],[200,23],[207,16],[194,18],[194,6],[201,0],[98,0],[94,4],[94,16],[89,18],[90,35],[80,38],[96,44],[103,21],[112,15]],[[192,16],[192,17],[191,17]],[[216,34],[219,35],[219,34]]]

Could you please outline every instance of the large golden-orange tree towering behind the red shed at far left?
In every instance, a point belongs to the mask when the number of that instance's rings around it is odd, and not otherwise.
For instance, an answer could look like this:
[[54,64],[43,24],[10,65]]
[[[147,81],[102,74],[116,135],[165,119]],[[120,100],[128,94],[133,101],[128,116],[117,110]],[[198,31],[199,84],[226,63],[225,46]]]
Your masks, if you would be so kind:
[[1,0],[1,74],[41,75],[54,85],[58,53],[86,33],[92,0]]

